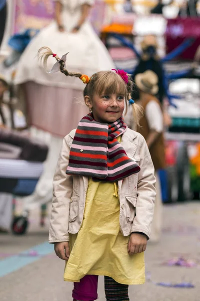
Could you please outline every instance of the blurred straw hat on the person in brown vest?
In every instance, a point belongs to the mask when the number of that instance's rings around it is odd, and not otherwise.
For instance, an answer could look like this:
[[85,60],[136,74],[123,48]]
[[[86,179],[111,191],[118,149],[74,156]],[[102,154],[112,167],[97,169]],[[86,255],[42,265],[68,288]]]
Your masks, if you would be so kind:
[[148,94],[157,94],[158,92],[158,77],[151,71],[146,70],[144,73],[138,73],[134,78],[137,87]]

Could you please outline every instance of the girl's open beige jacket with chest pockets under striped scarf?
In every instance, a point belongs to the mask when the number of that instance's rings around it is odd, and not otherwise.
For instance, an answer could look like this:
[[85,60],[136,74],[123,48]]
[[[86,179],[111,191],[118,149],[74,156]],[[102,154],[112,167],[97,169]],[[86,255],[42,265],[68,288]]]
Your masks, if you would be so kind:
[[[88,178],[65,174],[74,134],[75,130],[72,130],[63,139],[53,178],[50,243],[69,241],[68,233],[77,233],[83,220]],[[121,145],[141,170],[118,181],[120,230],[124,236],[131,232],[142,232],[149,238],[156,191],[148,147],[144,138],[129,128],[122,135]]]

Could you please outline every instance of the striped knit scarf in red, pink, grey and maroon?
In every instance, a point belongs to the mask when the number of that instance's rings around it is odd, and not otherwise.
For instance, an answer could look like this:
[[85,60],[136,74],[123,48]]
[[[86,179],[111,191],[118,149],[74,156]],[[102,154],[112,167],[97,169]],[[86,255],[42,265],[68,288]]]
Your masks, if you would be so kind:
[[139,166],[116,139],[126,129],[122,118],[107,124],[95,121],[91,113],[84,116],[71,144],[66,174],[115,182],[138,173]]

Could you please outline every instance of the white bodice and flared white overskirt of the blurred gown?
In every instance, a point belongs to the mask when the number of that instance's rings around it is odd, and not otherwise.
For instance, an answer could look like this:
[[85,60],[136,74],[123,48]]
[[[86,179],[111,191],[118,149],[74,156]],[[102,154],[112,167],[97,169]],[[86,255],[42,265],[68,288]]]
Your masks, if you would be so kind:
[[[60,58],[69,52],[66,57],[66,68],[69,71],[91,76],[97,71],[114,68],[108,51],[88,21],[84,22],[77,33],[71,33],[81,16],[81,5],[92,4],[93,1],[62,0],[61,2],[64,32],[59,32],[56,22],[52,21],[31,40],[20,57],[14,79],[15,84],[34,81],[45,86],[83,90],[84,84],[75,77],[66,77],[60,72],[49,74],[44,71],[37,58],[37,51],[43,46],[49,47]],[[54,63],[55,59],[49,57],[48,71]]]

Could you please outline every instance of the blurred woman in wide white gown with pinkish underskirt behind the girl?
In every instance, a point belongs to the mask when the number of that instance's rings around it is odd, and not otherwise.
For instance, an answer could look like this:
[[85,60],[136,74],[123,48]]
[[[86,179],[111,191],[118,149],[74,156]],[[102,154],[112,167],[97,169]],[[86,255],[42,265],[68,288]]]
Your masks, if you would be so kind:
[[[25,199],[29,203],[47,203],[52,196],[52,177],[62,138],[77,126],[87,114],[83,104],[84,84],[74,77],[44,71],[37,59],[40,47],[49,47],[66,57],[67,69],[91,75],[100,70],[111,70],[113,62],[87,20],[94,0],[54,0],[55,20],[32,39],[18,63],[15,84],[25,92],[28,123],[43,137],[47,132],[49,153],[35,192]],[[54,58],[48,60],[51,70]],[[73,112],[71,114],[71,112]],[[35,130],[36,128],[36,130]]]

